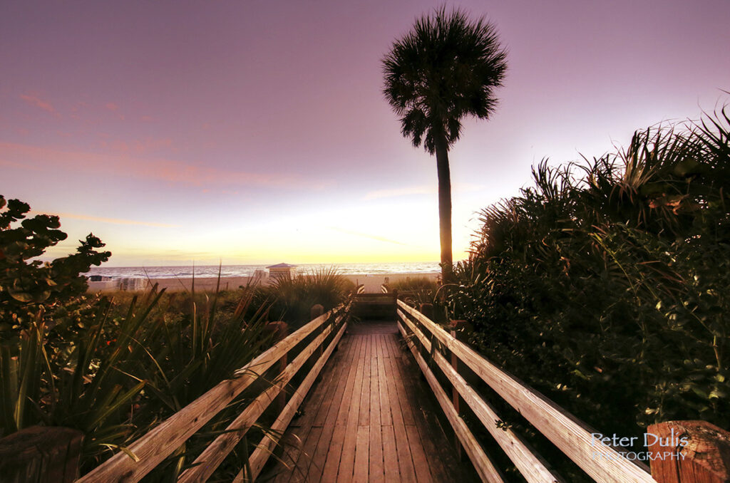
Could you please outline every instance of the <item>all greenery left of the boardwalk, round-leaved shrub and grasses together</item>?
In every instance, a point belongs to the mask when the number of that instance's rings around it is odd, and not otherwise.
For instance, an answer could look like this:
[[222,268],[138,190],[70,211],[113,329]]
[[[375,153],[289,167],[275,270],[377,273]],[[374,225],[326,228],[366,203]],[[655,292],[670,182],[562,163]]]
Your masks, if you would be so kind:
[[[301,325],[312,300],[331,308],[347,293],[329,270],[265,289],[89,295],[79,274],[109,258],[97,251],[104,244],[90,235],[77,254],[31,261],[66,238],[58,217],[26,218],[28,204],[0,197],[2,208],[0,437],[31,425],[81,430],[82,474],[270,347],[270,317]],[[261,383],[253,390],[270,384]],[[257,394],[243,393],[150,478],[180,474]],[[219,476],[247,463],[247,440],[239,446]]]

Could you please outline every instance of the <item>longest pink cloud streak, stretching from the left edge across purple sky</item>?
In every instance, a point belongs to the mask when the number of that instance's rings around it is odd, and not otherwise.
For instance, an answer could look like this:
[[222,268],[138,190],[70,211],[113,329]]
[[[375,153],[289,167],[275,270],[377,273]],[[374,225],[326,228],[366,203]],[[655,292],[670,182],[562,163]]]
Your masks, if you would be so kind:
[[[166,144],[166,141],[163,143]],[[0,163],[18,163],[28,169],[73,169],[100,174],[134,176],[142,179],[159,179],[191,186],[266,186],[320,189],[326,182],[302,179],[285,173],[253,173],[218,169],[201,164],[190,164],[164,158],[150,158],[127,152],[101,154],[96,152],[71,152],[47,147],[0,142]]]

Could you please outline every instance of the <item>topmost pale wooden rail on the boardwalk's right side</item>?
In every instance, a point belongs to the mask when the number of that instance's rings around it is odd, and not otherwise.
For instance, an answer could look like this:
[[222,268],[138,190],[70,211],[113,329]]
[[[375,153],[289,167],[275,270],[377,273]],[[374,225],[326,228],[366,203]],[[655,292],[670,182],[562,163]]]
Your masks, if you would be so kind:
[[[504,401],[507,401],[510,406],[520,412],[543,436],[552,441],[558,449],[564,452],[566,456],[580,466],[596,482],[656,482],[645,467],[634,464],[607,444],[596,441],[591,434],[596,433],[594,430],[591,430],[588,425],[585,425],[585,423],[580,422],[580,420],[577,420],[577,418],[564,411],[564,409],[561,409],[556,403],[553,403],[553,401],[545,398],[544,395],[523,385],[518,379],[497,368],[491,362],[477,354],[473,349],[458,341],[435,322],[429,320],[417,310],[412,309],[412,307],[403,301],[398,301],[398,306],[401,309],[399,310],[399,319],[403,321],[404,328],[405,326],[409,326],[409,322],[411,326],[420,325],[426,333],[424,339],[436,340],[443,347],[450,350],[453,355],[456,355],[459,360],[471,368]],[[431,352],[435,353],[438,349],[439,347],[431,347]],[[439,364],[439,367],[442,366]],[[471,397],[472,395],[469,394],[471,391],[467,390],[466,382],[463,385],[461,383],[455,384],[455,387],[457,390],[461,387],[459,393],[464,398],[464,401],[469,403],[472,410],[475,410],[475,413],[480,411],[479,405],[472,405],[475,401]],[[489,425],[487,424],[486,426],[488,427]],[[523,450],[520,449],[518,454],[513,454],[512,456],[518,459],[526,457],[526,455],[522,455],[522,452]],[[536,460],[539,461],[539,457],[534,455],[533,459],[524,460],[520,465],[537,470],[539,468],[534,465]],[[516,462],[515,465],[518,468],[520,467]],[[539,471],[543,470],[540,469]],[[545,471],[547,471],[546,468]],[[530,473],[528,472],[528,474]],[[527,478],[524,473],[523,476]],[[555,479],[555,476],[552,477]],[[532,479],[529,481],[546,480]]]

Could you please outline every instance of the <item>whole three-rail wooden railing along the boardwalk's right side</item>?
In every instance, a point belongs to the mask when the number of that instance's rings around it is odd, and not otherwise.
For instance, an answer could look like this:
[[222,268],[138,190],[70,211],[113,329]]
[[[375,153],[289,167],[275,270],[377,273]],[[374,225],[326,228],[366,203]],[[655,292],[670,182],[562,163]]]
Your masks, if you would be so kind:
[[[458,410],[459,397],[476,414],[481,424],[510,457],[526,481],[545,483],[563,480],[548,468],[542,457],[537,455],[520,436],[510,428],[498,427],[496,422],[501,421],[501,418],[459,374],[460,364],[469,367],[595,481],[615,483],[656,481],[645,465],[639,466],[633,463],[613,447],[596,439],[594,436],[596,431],[588,428],[542,394],[494,366],[422,313],[403,301],[398,301],[397,313],[401,334],[483,481],[502,482],[502,476],[461,418]],[[447,395],[437,376],[431,371],[434,364],[429,364],[422,352],[426,358],[435,363],[453,386],[452,398]],[[451,362],[446,358],[448,353],[452,356]]]

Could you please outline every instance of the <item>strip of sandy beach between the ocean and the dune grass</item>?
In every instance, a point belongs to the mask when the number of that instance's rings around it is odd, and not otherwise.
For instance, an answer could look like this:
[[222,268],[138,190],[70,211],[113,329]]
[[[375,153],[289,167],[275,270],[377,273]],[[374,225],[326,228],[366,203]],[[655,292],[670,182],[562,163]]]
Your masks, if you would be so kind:
[[[343,275],[352,280],[355,285],[365,285],[366,293],[378,293],[380,292],[380,285],[386,282],[397,282],[399,280],[405,280],[409,278],[427,277],[429,279],[436,280],[441,274],[437,272],[431,273],[409,273],[409,274],[348,274]],[[306,275],[305,275],[306,277]],[[268,284],[269,277],[263,277],[258,280],[254,277],[222,277],[220,279],[221,290],[234,290],[239,287],[245,287],[253,283]],[[170,278],[170,279],[150,279],[149,283],[158,284],[158,288],[166,289],[167,292],[181,292],[184,290],[191,290],[193,285],[192,278]],[[112,287],[110,284],[104,285],[105,282],[89,282],[90,292],[107,292],[118,290],[117,287]],[[217,278],[196,278],[195,279],[195,290],[215,290],[218,285]],[[149,286],[149,285],[148,285]]]

